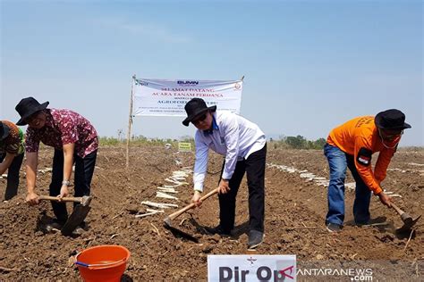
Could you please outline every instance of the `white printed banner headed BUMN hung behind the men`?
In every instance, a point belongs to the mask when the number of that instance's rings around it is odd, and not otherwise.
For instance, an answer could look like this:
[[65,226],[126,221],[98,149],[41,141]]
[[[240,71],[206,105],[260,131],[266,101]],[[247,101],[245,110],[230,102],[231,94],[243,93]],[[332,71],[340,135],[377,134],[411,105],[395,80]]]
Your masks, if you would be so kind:
[[195,97],[208,107],[240,113],[242,80],[134,79],[133,83],[134,116],[186,116],[184,105]]

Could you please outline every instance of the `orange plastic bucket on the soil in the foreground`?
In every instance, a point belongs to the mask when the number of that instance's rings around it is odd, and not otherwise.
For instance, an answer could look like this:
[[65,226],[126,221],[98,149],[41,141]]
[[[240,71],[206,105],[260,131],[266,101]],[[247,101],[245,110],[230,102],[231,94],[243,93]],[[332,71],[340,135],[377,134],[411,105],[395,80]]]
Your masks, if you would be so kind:
[[84,281],[120,281],[130,255],[121,245],[98,245],[78,253],[75,264]]

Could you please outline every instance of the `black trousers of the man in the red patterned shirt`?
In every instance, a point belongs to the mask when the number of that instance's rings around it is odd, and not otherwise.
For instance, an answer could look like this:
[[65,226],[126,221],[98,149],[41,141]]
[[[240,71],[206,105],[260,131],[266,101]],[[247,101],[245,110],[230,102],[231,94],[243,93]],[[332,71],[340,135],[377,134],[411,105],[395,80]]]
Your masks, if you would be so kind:
[[[89,195],[91,188],[91,179],[93,178],[94,167],[96,165],[96,158],[98,151],[89,153],[84,158],[81,158],[76,153],[73,155],[73,162],[75,163],[74,171],[74,196],[81,197]],[[60,188],[64,181],[64,151],[56,150],[53,156],[53,171],[52,182],[50,183],[49,193],[56,196],[60,194]],[[66,204],[51,201],[53,212],[58,221],[64,223],[68,219],[68,211],[66,211]],[[75,206],[77,203],[74,203]]]

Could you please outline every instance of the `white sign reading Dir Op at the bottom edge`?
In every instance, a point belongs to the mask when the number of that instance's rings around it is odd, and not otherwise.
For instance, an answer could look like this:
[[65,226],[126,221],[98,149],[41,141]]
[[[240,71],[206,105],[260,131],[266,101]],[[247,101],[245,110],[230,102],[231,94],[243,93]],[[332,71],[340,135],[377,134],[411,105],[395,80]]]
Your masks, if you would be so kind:
[[296,281],[296,256],[208,255],[208,281]]

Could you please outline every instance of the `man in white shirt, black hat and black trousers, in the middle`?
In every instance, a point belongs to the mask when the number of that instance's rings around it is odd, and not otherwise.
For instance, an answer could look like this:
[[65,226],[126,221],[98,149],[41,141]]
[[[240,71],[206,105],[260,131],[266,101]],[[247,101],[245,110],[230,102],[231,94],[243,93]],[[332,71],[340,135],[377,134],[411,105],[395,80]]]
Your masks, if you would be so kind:
[[249,187],[249,248],[260,245],[264,237],[265,206],[265,162],[267,140],[258,125],[227,111],[216,111],[200,98],[193,98],[185,105],[187,118],[198,129],[194,137],[196,162],[194,164],[194,195],[191,199],[196,206],[201,204],[203,182],[208,167],[208,150],[225,155],[225,162],[219,181],[219,219],[216,228],[209,232],[230,236],[234,228],[235,200],[244,172]]

